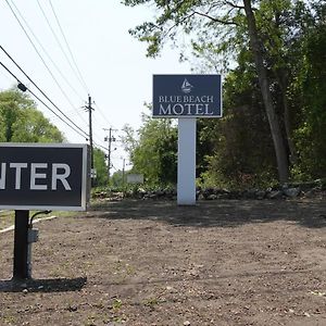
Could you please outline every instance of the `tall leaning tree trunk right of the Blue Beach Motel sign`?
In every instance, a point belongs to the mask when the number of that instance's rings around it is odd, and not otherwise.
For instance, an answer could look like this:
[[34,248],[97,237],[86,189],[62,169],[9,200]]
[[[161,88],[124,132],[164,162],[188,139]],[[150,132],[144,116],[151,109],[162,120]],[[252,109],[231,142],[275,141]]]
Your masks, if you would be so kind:
[[287,152],[281,136],[279,122],[273,104],[272,93],[269,90],[269,82],[267,78],[267,72],[264,66],[262,45],[259,40],[259,35],[255,25],[255,17],[251,8],[251,0],[243,0],[244,11],[248,23],[250,46],[254,57],[255,68],[259,77],[259,84],[264,101],[264,106],[268,117],[272,138],[274,142],[274,149],[277,161],[278,177],[280,183],[287,183],[289,178],[289,163]]

